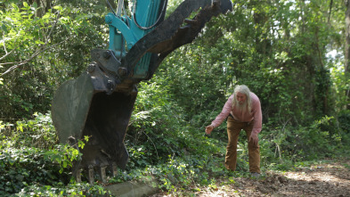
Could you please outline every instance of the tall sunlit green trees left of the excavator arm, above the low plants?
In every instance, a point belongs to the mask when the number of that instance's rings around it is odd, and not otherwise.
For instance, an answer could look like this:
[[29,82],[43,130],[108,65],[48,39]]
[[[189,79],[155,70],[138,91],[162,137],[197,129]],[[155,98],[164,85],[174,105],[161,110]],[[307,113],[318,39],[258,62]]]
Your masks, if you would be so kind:
[[106,9],[86,13],[60,2],[12,3],[0,10],[2,119],[28,119],[35,111],[48,111],[53,90],[85,70],[93,48],[105,48]]

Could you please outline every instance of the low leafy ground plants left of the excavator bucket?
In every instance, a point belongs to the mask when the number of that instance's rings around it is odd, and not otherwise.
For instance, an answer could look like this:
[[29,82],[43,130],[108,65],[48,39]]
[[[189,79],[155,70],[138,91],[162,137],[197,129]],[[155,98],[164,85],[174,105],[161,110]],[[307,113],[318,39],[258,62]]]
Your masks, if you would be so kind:
[[[89,137],[78,144],[56,144],[50,114],[16,123],[0,122],[0,195],[109,196],[101,185],[77,184],[71,167]],[[36,147],[35,147],[36,146]]]

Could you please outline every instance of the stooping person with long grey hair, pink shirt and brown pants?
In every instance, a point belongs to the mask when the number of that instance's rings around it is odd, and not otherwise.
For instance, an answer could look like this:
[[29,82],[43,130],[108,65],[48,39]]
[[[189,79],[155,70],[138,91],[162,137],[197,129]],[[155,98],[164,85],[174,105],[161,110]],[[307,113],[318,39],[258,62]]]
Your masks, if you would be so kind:
[[229,170],[236,170],[237,143],[240,130],[246,131],[248,138],[249,171],[251,176],[260,175],[260,151],[257,134],[262,127],[262,112],[259,98],[250,92],[248,86],[241,85],[234,88],[233,94],[224,104],[223,111],[206,127],[209,135],[224,119],[227,119],[228,144],[224,166]]

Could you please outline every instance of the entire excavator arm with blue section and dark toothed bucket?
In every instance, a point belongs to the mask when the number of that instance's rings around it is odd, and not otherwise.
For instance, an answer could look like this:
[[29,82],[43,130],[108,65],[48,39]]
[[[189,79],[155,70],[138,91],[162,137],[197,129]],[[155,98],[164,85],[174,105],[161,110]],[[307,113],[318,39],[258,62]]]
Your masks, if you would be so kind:
[[[79,140],[89,136],[84,149],[79,150],[81,160],[73,167],[77,181],[81,180],[81,169],[87,169],[89,182],[94,183],[96,168],[102,182],[106,181],[106,168],[114,175],[117,167],[126,168],[124,137],[137,95],[135,85],[150,79],[167,54],[191,43],[213,16],[232,10],[231,0],[184,0],[163,21],[167,0],[141,0],[136,5],[139,9],[135,9],[134,22],[116,13],[106,16],[110,49],[94,49],[87,70],[63,83],[53,96],[53,125],[60,143],[77,147]],[[142,8],[150,12],[140,11]],[[194,18],[187,19],[198,10]],[[154,24],[151,29],[142,27],[148,21],[136,22],[148,18]]]

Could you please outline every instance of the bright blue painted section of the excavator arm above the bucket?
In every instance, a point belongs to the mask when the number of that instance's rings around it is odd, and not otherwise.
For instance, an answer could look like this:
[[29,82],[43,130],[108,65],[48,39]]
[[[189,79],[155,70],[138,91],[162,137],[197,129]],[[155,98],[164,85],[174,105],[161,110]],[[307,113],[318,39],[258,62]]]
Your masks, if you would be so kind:
[[[159,20],[161,12],[165,12],[166,6],[166,0],[139,0],[134,3],[132,19],[107,14],[105,21],[110,26],[109,49],[118,59],[124,57],[139,39],[153,29],[152,26]],[[150,61],[151,53],[143,55],[134,67],[133,78],[147,78]]]

